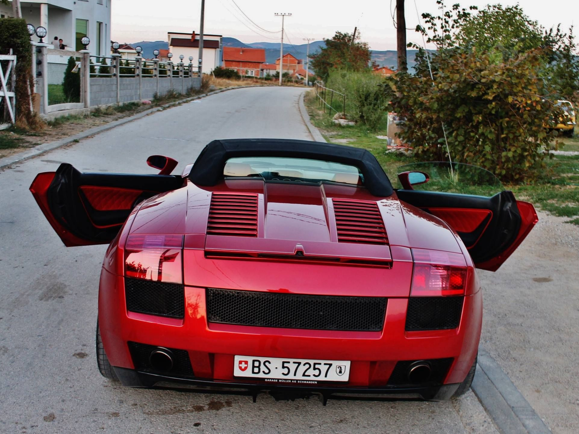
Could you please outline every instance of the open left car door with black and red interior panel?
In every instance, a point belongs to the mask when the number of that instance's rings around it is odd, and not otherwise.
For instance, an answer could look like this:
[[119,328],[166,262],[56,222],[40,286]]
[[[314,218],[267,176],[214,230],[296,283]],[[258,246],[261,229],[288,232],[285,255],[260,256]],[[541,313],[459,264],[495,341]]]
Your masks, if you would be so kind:
[[79,172],[63,163],[36,175],[30,191],[67,247],[108,244],[134,206],[178,189],[181,176]]

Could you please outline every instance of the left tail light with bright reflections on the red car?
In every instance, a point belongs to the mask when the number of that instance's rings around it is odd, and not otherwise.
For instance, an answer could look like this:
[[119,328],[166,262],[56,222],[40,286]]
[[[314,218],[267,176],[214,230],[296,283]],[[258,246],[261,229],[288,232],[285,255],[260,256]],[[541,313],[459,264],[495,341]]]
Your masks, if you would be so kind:
[[130,235],[124,248],[124,275],[183,283],[182,235]]

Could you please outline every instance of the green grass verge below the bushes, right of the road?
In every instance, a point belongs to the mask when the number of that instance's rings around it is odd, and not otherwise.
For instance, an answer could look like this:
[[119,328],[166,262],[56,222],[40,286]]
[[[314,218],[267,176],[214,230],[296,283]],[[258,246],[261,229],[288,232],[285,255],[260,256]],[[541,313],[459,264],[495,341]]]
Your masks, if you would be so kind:
[[[332,117],[318,102],[318,98],[310,91],[304,99],[312,123],[320,128],[321,133],[328,142],[335,139],[349,139],[344,145],[355,146],[369,150],[384,168],[394,186],[397,186],[398,167],[404,164],[419,163],[413,156],[401,155],[400,153],[387,153],[386,140],[376,138],[376,135],[386,135],[386,116],[378,131],[369,131],[364,125],[353,127],[340,127],[332,122]],[[335,113],[332,112],[332,115]],[[562,139],[565,148],[563,150],[579,150],[579,137],[577,134],[572,138]],[[556,216],[572,218],[567,223],[579,225],[579,156],[556,155],[545,159],[547,170],[536,182],[521,185],[505,185],[505,189],[512,190],[519,200],[529,201],[543,211],[551,212]],[[428,170],[427,170],[428,172]],[[432,174],[431,174],[432,175]],[[433,179],[434,181],[434,179]],[[432,189],[434,182],[424,185],[424,189]],[[428,187],[427,187],[428,186]],[[437,185],[441,187],[441,185]],[[442,185],[444,191],[461,192],[465,194],[480,194],[488,196],[489,189],[484,186],[456,186]],[[491,189],[494,193],[497,190]]]

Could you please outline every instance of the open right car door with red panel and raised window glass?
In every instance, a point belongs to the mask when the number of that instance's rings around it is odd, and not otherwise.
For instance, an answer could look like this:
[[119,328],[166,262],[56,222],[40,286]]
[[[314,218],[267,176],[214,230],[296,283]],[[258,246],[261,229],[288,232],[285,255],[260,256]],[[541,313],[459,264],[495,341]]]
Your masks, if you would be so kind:
[[407,164],[399,168],[398,178],[400,200],[445,220],[479,269],[499,269],[538,221],[532,204],[516,200],[480,167]]

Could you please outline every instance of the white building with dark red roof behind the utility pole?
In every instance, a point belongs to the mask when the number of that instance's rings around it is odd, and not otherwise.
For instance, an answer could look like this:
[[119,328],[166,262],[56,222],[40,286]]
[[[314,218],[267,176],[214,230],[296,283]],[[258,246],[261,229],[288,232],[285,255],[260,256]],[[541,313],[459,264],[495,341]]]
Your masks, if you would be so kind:
[[[190,33],[168,32],[169,52],[173,53],[174,63],[179,62],[179,55],[185,56],[184,62],[189,64],[189,56],[193,56],[193,66],[199,64],[199,35]],[[209,73],[215,67],[221,66],[222,35],[203,35],[203,72]]]

